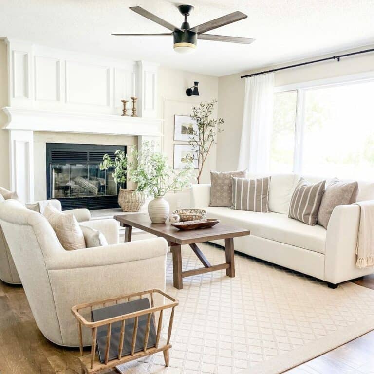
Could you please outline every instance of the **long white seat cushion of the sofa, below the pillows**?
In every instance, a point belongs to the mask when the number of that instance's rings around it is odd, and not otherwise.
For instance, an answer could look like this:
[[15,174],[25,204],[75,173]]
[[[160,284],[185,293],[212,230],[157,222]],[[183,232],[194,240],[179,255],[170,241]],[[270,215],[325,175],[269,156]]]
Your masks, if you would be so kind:
[[223,207],[204,209],[207,211],[207,218],[218,218],[224,224],[246,228],[251,231],[251,235],[325,253],[327,231],[322,226],[309,226],[281,213],[260,213]]

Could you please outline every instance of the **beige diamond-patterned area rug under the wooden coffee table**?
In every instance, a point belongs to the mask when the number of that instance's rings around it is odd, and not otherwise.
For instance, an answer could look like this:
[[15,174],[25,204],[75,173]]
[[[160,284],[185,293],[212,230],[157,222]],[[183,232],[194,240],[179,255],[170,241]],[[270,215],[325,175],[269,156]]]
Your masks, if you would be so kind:
[[[211,263],[224,250],[202,244]],[[201,267],[183,247],[183,268]],[[374,290],[345,282],[337,289],[276,265],[235,256],[236,277],[217,271],[172,286],[179,300],[170,364],[162,353],[119,367],[126,374],[278,374],[374,329]],[[168,320],[168,319],[167,319]],[[167,334],[164,326],[164,335]]]

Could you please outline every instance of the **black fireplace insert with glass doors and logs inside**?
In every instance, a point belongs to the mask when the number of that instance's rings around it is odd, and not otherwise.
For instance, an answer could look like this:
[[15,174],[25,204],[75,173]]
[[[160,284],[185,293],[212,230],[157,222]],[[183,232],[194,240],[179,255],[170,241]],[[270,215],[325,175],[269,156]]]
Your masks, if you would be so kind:
[[99,168],[104,154],[114,159],[116,150],[126,146],[47,143],[47,199],[58,199],[63,210],[119,207],[113,169]]

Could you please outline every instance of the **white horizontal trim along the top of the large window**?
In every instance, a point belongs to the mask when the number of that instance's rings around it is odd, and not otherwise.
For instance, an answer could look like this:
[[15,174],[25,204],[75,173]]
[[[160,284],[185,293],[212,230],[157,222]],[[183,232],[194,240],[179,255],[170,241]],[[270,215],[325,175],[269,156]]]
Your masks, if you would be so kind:
[[284,92],[284,91],[295,91],[299,89],[308,89],[308,88],[318,88],[323,86],[337,86],[341,84],[347,83],[358,83],[358,82],[365,82],[365,81],[372,81],[374,80],[374,71],[364,72],[364,73],[357,73],[357,74],[349,74],[349,75],[339,75],[334,76],[331,78],[323,78],[323,79],[316,79],[310,80],[305,82],[299,83],[292,83],[287,84],[284,86],[277,86],[274,88],[274,92]]

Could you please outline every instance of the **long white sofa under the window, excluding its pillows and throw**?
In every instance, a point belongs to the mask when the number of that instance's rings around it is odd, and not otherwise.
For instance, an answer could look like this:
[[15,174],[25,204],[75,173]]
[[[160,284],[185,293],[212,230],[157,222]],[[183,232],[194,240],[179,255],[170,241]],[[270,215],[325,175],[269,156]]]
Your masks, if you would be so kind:
[[[249,178],[264,175],[251,174]],[[358,205],[337,206],[327,230],[288,218],[288,206],[299,181],[296,174],[272,175],[269,189],[269,213],[211,207],[210,184],[193,185],[191,205],[206,209],[208,218],[243,227],[251,235],[235,238],[234,249],[326,281],[335,288],[338,283],[371,274],[374,269],[355,266],[355,248],[359,226]],[[304,176],[311,183],[326,178]],[[327,179],[326,185],[329,180]],[[357,201],[374,200],[374,183],[358,182]],[[224,245],[223,241],[215,243]]]

